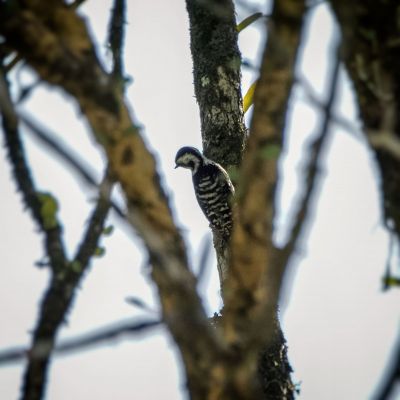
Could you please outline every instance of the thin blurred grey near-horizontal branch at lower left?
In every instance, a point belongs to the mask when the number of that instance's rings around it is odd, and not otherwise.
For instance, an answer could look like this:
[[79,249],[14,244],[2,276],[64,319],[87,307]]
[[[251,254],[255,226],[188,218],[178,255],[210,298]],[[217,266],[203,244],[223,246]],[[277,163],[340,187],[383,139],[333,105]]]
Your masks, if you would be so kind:
[[[54,355],[70,354],[74,351],[83,351],[96,345],[106,344],[118,340],[124,336],[138,335],[149,329],[161,325],[159,320],[132,321],[132,319],[107,325],[86,334],[63,341],[53,350]],[[41,359],[48,353],[48,344],[42,343],[34,352],[28,348],[19,346],[0,351],[0,366],[21,362],[25,359]]]

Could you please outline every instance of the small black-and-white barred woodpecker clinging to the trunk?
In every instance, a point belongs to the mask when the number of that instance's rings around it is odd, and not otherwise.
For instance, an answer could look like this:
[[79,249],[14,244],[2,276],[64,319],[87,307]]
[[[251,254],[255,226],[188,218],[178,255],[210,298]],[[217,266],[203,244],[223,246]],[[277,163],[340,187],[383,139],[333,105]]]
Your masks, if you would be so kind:
[[232,229],[232,197],[235,189],[227,172],[194,147],[182,147],[175,157],[177,167],[192,171],[197,201],[212,229],[228,238]]

